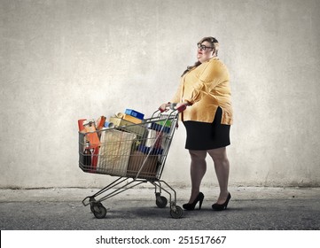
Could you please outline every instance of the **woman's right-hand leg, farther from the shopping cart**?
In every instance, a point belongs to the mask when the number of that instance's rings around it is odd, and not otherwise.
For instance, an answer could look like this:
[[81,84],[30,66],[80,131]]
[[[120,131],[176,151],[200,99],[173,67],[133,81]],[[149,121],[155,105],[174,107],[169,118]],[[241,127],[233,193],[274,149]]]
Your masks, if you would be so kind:
[[215,162],[215,174],[217,176],[220,195],[217,200],[217,204],[223,204],[228,198],[228,183],[229,183],[229,170],[230,164],[227,157],[227,150],[225,147],[212,149],[207,151]]

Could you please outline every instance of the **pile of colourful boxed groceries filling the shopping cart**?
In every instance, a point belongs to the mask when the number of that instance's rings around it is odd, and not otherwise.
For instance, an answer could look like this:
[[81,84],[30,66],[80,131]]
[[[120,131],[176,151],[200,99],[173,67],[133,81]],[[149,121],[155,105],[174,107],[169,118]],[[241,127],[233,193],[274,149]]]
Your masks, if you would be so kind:
[[144,113],[126,109],[109,118],[78,120],[79,167],[89,173],[159,178],[173,119],[163,113],[144,119]]

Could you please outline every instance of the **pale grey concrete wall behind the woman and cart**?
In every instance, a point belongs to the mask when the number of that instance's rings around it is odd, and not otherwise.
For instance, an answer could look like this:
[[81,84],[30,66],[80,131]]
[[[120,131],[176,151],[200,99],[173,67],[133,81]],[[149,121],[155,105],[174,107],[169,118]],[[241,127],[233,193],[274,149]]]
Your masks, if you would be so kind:
[[[77,120],[151,115],[206,35],[230,68],[230,184],[319,186],[319,12],[319,0],[0,0],[0,187],[111,182],[78,168]],[[184,138],[180,125],[162,178],[188,186]]]

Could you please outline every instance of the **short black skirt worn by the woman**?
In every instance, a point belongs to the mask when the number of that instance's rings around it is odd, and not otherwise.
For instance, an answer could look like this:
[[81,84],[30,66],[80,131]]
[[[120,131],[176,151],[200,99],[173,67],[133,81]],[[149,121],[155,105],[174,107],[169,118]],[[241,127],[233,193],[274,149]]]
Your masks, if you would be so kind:
[[230,145],[230,125],[221,124],[222,109],[218,107],[212,123],[183,121],[187,132],[185,149],[211,150]]

